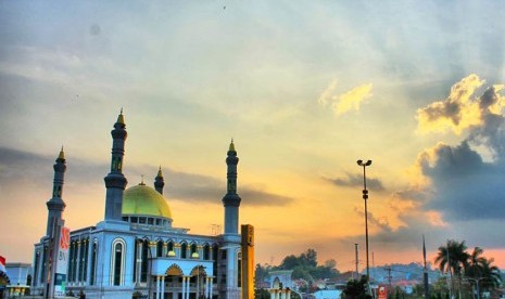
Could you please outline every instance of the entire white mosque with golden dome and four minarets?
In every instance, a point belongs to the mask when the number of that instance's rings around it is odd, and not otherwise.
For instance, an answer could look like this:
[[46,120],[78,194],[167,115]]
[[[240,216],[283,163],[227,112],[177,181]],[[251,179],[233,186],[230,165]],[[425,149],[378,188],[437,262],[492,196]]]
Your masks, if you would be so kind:
[[125,128],[122,112],[111,131],[104,220],[70,232],[67,260],[62,263],[65,273],[54,276],[60,261],[53,265],[52,260],[62,258],[54,255],[59,245],[52,239],[60,239],[53,236],[64,226],[62,213],[66,207],[62,197],[66,160],[63,148],[60,152],[53,167],[52,198],[47,202],[46,235],[35,244],[31,295],[51,298],[50,286],[58,285],[65,295],[86,298],[241,298],[241,198],[237,194],[239,158],[233,142],[226,158],[224,233],[197,235],[173,226],[161,168],[153,187],[142,182],[126,188]]

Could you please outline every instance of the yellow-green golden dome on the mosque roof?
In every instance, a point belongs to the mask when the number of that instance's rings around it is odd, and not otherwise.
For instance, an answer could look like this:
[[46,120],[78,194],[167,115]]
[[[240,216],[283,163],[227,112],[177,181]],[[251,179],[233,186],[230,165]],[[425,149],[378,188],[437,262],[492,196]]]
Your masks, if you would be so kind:
[[144,184],[131,186],[123,194],[123,216],[132,214],[172,219],[171,208],[165,197]]

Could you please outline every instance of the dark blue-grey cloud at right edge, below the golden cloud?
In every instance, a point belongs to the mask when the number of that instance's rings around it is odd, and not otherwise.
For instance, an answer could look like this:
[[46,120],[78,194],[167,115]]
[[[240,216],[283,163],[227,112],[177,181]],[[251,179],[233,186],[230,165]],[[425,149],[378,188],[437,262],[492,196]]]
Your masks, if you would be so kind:
[[504,165],[484,162],[467,141],[438,144],[418,160],[434,193],[425,209],[440,210],[449,220],[503,219]]

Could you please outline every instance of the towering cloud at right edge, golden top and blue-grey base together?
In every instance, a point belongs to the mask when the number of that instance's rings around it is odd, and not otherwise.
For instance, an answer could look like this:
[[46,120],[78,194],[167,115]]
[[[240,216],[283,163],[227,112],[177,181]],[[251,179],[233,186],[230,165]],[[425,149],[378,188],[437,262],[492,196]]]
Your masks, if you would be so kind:
[[[421,208],[440,211],[444,221],[505,220],[505,98],[503,86],[476,95],[483,82],[470,75],[453,86],[444,102],[418,110],[422,130],[468,131],[457,145],[440,142],[422,151],[415,164],[427,181],[417,193],[428,195],[417,197]],[[488,153],[492,158],[485,160]]]

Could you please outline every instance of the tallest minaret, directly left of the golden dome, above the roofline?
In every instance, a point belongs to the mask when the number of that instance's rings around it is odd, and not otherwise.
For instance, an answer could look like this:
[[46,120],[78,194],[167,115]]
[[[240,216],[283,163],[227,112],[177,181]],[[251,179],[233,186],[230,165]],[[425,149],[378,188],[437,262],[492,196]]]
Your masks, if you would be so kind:
[[125,119],[121,109],[117,121],[114,123],[112,135],[112,161],[111,172],[104,178],[105,196],[105,220],[122,220],[123,192],[128,181],[123,176],[123,157],[125,156]]

